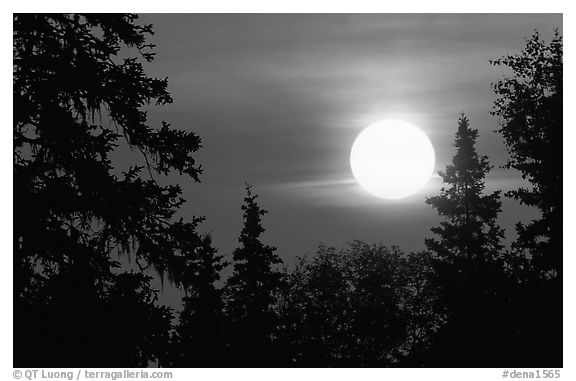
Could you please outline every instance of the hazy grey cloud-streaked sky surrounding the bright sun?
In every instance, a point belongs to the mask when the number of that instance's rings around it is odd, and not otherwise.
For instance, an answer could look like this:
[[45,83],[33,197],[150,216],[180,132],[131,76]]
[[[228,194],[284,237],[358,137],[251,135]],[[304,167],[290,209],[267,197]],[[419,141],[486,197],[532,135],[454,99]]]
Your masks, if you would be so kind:
[[[356,136],[383,119],[415,124],[436,152],[435,171],[454,155],[457,120],[479,130],[477,149],[495,166],[487,191],[522,184],[499,168],[507,154],[490,115],[491,83],[506,72],[489,60],[519,53],[535,29],[550,40],[560,14],[146,14],[157,45],[149,75],[168,77],[171,105],[150,107],[202,138],[200,184],[183,177],[184,217],[203,215],[201,230],[231,258],[242,228],[244,183],[268,210],[262,240],[288,264],[320,243],[381,241],[425,248],[440,221],[425,198],[435,175],[400,201],[379,199],[352,176]],[[511,200],[500,217],[535,216]]]

